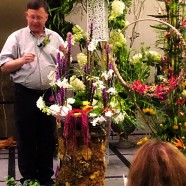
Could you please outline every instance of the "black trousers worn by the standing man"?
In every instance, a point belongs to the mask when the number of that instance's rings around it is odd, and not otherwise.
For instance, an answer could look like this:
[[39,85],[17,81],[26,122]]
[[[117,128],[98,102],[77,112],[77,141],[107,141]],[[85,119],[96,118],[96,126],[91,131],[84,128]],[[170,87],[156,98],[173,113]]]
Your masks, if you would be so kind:
[[[51,180],[55,152],[55,118],[42,113],[36,106],[42,91],[15,84],[15,125],[18,166],[23,179]],[[48,95],[47,95],[48,94]],[[45,94],[47,101],[50,91]]]

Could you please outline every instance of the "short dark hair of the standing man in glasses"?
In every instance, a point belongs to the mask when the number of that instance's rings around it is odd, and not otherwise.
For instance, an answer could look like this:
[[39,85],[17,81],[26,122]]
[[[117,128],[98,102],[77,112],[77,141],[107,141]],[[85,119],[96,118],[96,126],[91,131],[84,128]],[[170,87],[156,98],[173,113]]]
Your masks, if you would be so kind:
[[48,4],[45,0],[31,0],[27,3],[27,10],[28,9],[38,10],[41,7],[43,7],[45,11],[48,13]]

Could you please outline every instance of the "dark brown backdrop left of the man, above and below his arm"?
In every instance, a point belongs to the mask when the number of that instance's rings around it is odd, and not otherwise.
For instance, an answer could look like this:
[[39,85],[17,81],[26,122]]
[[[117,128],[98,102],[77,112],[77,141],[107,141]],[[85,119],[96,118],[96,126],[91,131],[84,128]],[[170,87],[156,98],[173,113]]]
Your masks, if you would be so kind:
[[[0,3],[0,51],[7,37],[26,26],[24,11],[27,0],[1,0]],[[0,71],[0,138],[15,136],[13,116],[13,83],[9,74]]]

